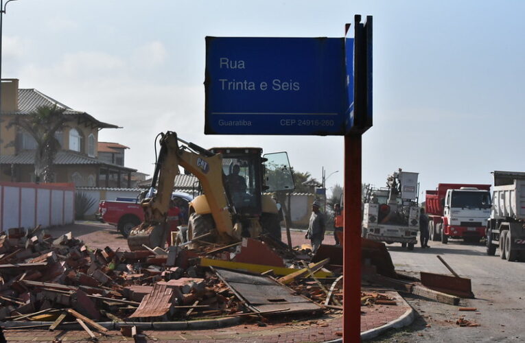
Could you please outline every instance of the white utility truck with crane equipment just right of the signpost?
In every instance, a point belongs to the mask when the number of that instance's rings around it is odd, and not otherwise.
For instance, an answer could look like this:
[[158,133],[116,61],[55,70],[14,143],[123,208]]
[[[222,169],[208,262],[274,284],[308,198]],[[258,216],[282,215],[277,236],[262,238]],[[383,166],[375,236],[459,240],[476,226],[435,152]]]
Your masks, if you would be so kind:
[[419,232],[418,175],[399,169],[388,176],[387,187],[366,189],[362,237],[414,249]]

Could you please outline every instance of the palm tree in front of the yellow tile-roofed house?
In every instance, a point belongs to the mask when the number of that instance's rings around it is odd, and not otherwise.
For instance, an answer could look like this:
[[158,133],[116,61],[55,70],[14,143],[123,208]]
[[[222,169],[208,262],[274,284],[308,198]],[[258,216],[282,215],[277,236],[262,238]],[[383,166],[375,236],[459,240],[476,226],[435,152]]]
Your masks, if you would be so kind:
[[36,182],[53,182],[53,165],[60,149],[55,133],[66,127],[65,108],[40,106],[29,115],[16,115],[8,128],[17,126],[30,134],[36,141],[34,174]]

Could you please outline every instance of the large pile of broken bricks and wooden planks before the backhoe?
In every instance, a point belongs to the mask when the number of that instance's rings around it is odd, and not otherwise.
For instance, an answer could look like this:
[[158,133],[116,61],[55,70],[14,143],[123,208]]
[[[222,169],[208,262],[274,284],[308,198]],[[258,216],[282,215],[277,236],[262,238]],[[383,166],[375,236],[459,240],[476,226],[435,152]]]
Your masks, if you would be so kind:
[[188,247],[91,250],[71,233],[12,228],[0,233],[0,320],[47,321],[51,330],[71,320],[104,333],[97,322],[312,314],[341,305],[342,276],[332,287],[318,279],[332,275],[323,269],[328,259],[305,263],[267,239]]

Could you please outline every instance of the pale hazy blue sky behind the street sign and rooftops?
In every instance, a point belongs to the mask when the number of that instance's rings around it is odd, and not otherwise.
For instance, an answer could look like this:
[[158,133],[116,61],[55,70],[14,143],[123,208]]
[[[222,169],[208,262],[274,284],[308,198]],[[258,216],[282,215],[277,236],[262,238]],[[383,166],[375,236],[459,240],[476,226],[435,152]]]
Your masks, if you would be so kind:
[[[205,36],[340,37],[374,20],[374,126],[363,181],[399,167],[439,182],[491,183],[525,171],[525,2],[19,0],[3,16],[3,78],[19,78],[100,121],[100,141],[130,147],[151,174],[157,133],[205,147],[288,151],[327,187],[343,180],[342,137],[206,136]],[[423,200],[423,199],[421,199]]]

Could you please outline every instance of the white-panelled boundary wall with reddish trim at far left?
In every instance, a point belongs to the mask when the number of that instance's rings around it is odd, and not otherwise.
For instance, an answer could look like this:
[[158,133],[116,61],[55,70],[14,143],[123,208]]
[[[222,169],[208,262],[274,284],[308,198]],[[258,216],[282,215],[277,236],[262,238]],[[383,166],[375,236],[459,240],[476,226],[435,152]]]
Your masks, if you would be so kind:
[[0,182],[0,231],[71,224],[75,220],[75,186]]

